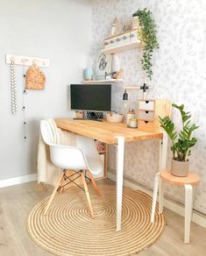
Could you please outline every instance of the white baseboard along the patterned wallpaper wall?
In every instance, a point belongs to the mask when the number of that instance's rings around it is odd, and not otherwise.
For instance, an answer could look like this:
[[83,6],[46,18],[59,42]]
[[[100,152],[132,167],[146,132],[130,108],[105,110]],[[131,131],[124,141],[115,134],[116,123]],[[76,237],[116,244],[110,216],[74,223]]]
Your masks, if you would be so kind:
[[[112,174],[110,172],[108,172],[108,178],[112,181],[116,181],[116,175]],[[138,189],[142,192],[145,192],[149,196],[153,196],[153,191],[151,191],[149,188],[145,188],[145,187],[141,186],[140,184],[137,184],[133,181],[126,180],[125,178],[124,178],[124,185],[125,185],[125,187],[133,188],[136,190]],[[182,205],[181,203],[174,202],[171,199],[168,199],[165,197],[164,198],[164,207],[166,207],[169,210],[173,210],[177,214],[184,217],[184,205]],[[193,210],[192,221],[195,224],[199,224],[203,228],[206,228],[206,216],[204,216],[203,214],[201,214],[195,210]]]

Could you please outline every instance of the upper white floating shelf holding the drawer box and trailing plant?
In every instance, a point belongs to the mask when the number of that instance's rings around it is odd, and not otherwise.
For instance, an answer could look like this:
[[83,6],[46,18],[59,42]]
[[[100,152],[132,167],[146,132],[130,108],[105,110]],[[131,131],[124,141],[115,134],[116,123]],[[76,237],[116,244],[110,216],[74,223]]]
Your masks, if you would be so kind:
[[101,52],[106,53],[106,54],[122,53],[124,51],[128,51],[128,50],[135,49],[135,48],[140,48],[142,46],[143,46],[143,43],[140,40],[138,40],[136,42],[126,43],[121,46],[115,46],[115,47],[112,47],[109,49],[103,49],[103,50],[101,50]]

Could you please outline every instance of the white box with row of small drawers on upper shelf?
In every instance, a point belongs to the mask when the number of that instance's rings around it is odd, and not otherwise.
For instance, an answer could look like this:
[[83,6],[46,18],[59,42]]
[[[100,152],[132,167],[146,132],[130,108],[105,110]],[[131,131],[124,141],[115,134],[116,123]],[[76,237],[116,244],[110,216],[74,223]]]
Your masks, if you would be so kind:
[[125,32],[118,34],[116,36],[110,37],[104,40],[104,49],[110,49],[117,46],[124,46],[126,43],[138,42],[139,41],[139,31],[131,30],[130,32]]

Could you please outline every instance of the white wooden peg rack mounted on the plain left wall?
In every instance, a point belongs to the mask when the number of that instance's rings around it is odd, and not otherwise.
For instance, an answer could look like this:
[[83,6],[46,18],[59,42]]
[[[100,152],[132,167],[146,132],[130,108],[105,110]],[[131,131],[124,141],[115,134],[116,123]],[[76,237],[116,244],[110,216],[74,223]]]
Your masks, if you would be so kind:
[[15,65],[21,66],[32,66],[32,64],[36,64],[39,68],[49,68],[50,65],[49,59],[6,54],[6,64],[11,64],[11,60],[14,61]]

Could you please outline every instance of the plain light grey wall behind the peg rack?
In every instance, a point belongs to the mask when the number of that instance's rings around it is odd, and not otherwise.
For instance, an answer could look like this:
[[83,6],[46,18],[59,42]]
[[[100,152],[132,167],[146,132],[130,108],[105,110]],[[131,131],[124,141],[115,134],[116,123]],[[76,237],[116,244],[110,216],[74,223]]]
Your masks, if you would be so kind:
[[[67,85],[82,81],[91,39],[86,0],[0,0],[0,180],[36,172],[39,119],[69,117]],[[27,139],[23,133],[24,68],[17,67],[18,114],[11,115],[10,67],[5,53],[49,58],[44,91],[26,96]]]

